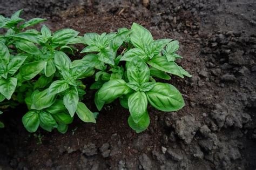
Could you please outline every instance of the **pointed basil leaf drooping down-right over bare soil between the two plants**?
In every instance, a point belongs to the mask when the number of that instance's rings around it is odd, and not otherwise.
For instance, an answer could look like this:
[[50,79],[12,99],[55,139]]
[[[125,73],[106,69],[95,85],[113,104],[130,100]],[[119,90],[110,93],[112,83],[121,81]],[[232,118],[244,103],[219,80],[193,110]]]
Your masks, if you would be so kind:
[[78,103],[76,113],[78,117],[84,122],[96,123],[94,114],[86,107],[84,103]]

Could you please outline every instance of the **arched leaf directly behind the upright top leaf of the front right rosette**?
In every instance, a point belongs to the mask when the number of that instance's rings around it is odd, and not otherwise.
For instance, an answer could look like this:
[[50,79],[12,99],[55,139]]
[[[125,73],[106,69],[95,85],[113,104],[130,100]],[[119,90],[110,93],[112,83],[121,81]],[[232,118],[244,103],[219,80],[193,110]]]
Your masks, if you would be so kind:
[[147,55],[143,50],[134,48],[134,49],[131,49],[131,50],[125,52],[124,56],[120,60],[131,62],[132,59],[136,56],[139,56],[139,58],[141,58],[143,60],[147,58]]

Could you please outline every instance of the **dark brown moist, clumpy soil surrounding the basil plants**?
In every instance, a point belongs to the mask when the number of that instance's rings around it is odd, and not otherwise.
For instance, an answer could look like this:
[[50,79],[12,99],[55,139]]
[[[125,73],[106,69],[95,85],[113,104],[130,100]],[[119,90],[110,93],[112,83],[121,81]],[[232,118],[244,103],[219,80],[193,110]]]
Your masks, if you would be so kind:
[[[48,18],[52,31],[81,35],[142,24],[155,39],[179,40],[178,64],[193,77],[165,81],[186,105],[177,112],[149,106],[151,124],[139,134],[118,101],[104,106],[97,124],[75,118],[65,134],[26,132],[26,107],[18,106],[1,115],[0,169],[256,168],[255,1],[0,1],[5,16],[22,8],[24,18]],[[87,88],[84,103],[96,112],[94,93]]]

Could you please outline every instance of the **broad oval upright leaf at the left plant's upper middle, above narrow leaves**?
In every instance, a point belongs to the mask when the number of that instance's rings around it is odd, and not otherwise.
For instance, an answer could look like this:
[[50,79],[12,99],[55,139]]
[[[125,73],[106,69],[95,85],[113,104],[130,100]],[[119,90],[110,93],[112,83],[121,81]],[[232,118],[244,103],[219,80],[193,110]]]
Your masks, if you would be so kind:
[[54,63],[58,70],[69,71],[71,67],[70,58],[62,51],[56,51],[54,54]]

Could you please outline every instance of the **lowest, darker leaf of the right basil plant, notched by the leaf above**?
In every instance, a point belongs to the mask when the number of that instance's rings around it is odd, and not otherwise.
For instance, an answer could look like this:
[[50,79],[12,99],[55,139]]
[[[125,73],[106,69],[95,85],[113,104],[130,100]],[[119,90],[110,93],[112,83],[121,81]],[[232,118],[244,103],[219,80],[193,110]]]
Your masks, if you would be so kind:
[[128,118],[128,124],[134,131],[136,131],[136,133],[145,131],[150,125],[149,113],[146,111],[138,123],[135,123],[130,115]]

